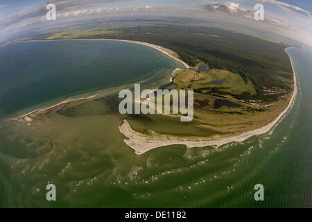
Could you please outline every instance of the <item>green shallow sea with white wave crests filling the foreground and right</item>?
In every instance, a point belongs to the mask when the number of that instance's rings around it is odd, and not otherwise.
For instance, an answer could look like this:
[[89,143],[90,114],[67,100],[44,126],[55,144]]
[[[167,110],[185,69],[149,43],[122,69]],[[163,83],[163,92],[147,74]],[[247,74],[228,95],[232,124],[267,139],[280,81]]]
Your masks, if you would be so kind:
[[[119,133],[114,94],[43,123],[3,122],[0,206],[312,207],[312,50],[288,53],[298,82],[291,110],[268,133],[218,150],[179,145],[135,155]],[[145,76],[146,85],[170,76],[160,73]],[[53,202],[46,200],[49,183],[57,187]],[[254,200],[259,183],[264,201]]]

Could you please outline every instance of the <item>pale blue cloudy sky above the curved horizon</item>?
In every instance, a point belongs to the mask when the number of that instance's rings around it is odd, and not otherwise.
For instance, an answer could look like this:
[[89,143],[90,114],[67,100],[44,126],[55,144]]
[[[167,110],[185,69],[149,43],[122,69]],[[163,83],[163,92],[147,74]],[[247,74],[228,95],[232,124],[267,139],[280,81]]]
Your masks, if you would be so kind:
[[[57,21],[46,21],[46,4],[55,3]],[[254,22],[254,5],[265,19]],[[65,22],[112,16],[187,16],[219,19],[241,27],[283,33],[312,45],[312,0],[0,0],[0,41],[15,34]]]

